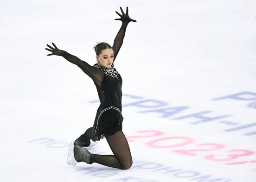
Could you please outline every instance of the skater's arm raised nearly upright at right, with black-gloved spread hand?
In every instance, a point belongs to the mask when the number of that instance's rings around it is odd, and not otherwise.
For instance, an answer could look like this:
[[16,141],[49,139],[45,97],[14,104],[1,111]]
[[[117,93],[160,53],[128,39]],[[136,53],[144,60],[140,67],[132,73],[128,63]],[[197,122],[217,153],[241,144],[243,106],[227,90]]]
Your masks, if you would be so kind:
[[[124,35],[125,35],[125,31],[126,31],[128,23],[130,21],[137,22],[135,19],[130,19],[129,15],[128,15],[128,6],[126,7],[126,14],[123,12],[121,7],[120,7],[120,9],[121,9],[122,15],[118,12],[115,12],[121,17],[121,18],[115,19],[115,20],[121,20],[122,25],[115,37],[114,44],[112,46],[112,49],[114,51],[114,61],[115,61],[115,58],[123,44],[123,39],[124,39]],[[113,63],[114,63],[114,61],[113,61]]]

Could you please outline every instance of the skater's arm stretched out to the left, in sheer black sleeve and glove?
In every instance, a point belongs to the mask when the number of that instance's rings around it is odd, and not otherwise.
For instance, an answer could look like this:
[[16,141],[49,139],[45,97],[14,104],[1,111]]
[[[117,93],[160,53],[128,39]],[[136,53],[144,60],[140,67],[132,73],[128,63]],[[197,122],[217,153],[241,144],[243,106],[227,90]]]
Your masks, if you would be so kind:
[[70,63],[76,64],[79,68],[81,68],[83,70],[83,72],[85,72],[92,79],[97,78],[96,77],[97,69],[95,67],[89,65],[85,61],[82,61],[78,57],[69,54],[65,50],[59,50],[54,43],[52,43],[52,44],[53,44],[54,48],[52,46],[48,45],[48,44],[47,44],[47,46],[50,49],[45,48],[46,50],[49,50],[49,51],[52,52],[51,54],[48,54],[47,56],[51,56],[51,55],[62,56],[65,59],[67,59],[67,61],[69,61]]

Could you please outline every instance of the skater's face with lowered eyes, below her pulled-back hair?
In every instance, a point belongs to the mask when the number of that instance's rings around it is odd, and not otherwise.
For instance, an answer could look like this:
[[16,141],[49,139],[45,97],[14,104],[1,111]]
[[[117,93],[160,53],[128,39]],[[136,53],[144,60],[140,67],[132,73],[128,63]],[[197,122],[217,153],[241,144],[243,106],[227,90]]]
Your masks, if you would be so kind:
[[102,50],[99,56],[96,55],[96,59],[98,60],[98,65],[110,67],[114,61],[113,49],[111,48]]

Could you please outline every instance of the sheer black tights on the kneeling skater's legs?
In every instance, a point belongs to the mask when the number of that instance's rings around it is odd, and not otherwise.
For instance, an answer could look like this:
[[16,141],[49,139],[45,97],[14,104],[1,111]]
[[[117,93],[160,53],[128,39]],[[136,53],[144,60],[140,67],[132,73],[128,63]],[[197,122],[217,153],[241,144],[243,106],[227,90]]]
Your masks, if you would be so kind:
[[[90,140],[92,127],[77,138],[81,142],[88,142]],[[122,131],[116,132],[114,135],[106,137],[109,147],[114,155],[98,155],[92,154],[91,163],[99,163],[105,166],[129,169],[132,166],[132,156],[126,137]]]

